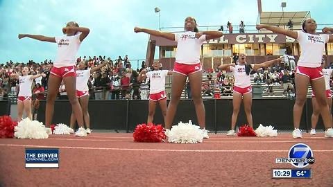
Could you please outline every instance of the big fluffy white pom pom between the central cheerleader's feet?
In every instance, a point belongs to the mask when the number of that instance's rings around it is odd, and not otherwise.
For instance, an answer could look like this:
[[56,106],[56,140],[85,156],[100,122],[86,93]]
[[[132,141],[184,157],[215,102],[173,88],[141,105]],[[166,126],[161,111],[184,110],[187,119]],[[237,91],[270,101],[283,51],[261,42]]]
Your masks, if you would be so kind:
[[170,131],[167,131],[167,140],[172,143],[202,143],[203,131],[197,125],[189,123],[178,123],[174,125]]

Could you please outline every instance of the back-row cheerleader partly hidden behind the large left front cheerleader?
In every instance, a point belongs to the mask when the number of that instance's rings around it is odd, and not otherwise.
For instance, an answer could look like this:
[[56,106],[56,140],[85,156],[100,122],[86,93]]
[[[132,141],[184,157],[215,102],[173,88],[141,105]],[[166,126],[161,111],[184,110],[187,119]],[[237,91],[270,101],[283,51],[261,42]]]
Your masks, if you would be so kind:
[[[83,60],[78,63],[78,70],[76,70],[76,97],[80,103],[83,113],[83,119],[85,121],[85,127],[87,134],[91,134],[92,130],[90,130],[90,117],[88,111],[88,103],[89,103],[89,88],[88,88],[88,80],[90,74],[94,71],[101,69],[103,66],[108,64],[104,62],[99,64],[98,66],[94,66],[93,68],[88,68],[87,60]],[[76,122],[76,116],[74,111],[71,111],[71,124],[70,127],[74,129],[74,125]]]

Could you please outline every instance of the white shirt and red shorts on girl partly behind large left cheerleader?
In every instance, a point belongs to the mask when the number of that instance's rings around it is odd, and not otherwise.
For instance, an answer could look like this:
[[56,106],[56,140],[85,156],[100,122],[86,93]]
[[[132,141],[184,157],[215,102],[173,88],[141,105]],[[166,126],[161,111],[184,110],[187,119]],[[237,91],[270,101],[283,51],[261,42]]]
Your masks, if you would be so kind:
[[89,95],[88,80],[90,69],[76,70],[76,96],[78,98]]

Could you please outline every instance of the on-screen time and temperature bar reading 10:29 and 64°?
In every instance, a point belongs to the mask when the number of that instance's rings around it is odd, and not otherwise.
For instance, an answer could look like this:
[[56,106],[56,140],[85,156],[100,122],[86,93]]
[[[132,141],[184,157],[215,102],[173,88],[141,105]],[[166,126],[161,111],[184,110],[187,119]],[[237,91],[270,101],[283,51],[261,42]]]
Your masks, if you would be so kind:
[[282,179],[282,178],[302,178],[302,179],[311,179],[312,171],[311,168],[305,169],[273,169],[273,178]]

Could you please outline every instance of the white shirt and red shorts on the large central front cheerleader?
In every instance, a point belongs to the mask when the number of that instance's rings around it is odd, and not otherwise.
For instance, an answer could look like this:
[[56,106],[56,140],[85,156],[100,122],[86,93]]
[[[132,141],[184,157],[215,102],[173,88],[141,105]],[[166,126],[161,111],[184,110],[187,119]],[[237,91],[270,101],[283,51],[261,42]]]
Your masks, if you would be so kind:
[[205,40],[206,35],[196,38],[196,33],[191,31],[175,34],[177,53],[173,71],[183,75],[201,71],[200,48]]

